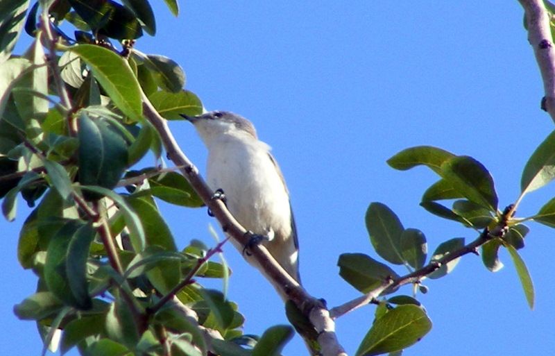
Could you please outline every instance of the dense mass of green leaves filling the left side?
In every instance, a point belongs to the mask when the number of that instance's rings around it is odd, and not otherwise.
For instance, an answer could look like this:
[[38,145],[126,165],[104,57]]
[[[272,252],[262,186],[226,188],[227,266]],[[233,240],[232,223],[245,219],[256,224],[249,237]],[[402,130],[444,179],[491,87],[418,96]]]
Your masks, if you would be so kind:
[[[166,4],[178,14],[176,0]],[[34,40],[19,56],[22,31]],[[225,241],[180,249],[160,213],[159,201],[203,202],[162,168],[143,105],[166,119],[203,105],[175,61],[137,50],[155,31],[146,0],[1,2],[1,207],[8,221],[19,196],[33,208],[17,255],[38,280],[15,314],[37,323],[43,353],[62,330],[62,354],[277,354],[289,326],[246,335],[238,306],[203,287],[207,278],[227,283],[230,269],[213,258]]]

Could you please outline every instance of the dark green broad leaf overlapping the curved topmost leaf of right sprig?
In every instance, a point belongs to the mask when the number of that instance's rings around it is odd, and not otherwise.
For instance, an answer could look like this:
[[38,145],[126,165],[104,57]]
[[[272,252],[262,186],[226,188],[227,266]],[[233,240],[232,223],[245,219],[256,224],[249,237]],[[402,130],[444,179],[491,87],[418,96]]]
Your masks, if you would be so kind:
[[469,201],[497,210],[497,194],[493,178],[480,162],[472,157],[457,156],[443,162],[441,174],[456,191]]

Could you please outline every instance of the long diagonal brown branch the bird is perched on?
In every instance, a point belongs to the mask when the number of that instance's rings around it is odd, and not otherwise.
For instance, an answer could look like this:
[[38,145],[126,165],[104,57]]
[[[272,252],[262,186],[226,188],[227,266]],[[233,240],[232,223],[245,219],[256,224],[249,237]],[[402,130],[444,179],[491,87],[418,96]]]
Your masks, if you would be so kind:
[[[144,93],[142,97],[144,116],[160,135],[167,151],[168,158],[172,160],[176,166],[180,167],[180,172],[187,178],[191,187],[195,189],[198,196],[203,200],[212,214],[214,214],[214,217],[221,224],[223,231],[230,235],[232,239],[239,241],[241,245],[246,246],[248,243],[248,235],[246,235],[247,230],[234,219],[220,199],[213,198],[214,192],[212,192],[212,189],[205,183],[194,164],[192,164],[181,151],[166,120],[158,114]],[[253,246],[253,248],[250,249],[250,253],[260,266],[264,268],[266,278],[272,280],[274,285],[280,286],[284,296],[292,300],[293,303],[308,316],[312,325],[314,325],[314,328],[318,332],[318,342],[322,348],[323,355],[346,356],[347,354],[343,351],[343,348],[337,340],[334,330],[334,321],[330,318],[330,314],[323,303],[308,294],[296,280],[293,280],[293,278],[289,276],[289,273],[274,260],[273,256],[268,253],[268,250],[262,244]],[[301,336],[305,338],[305,335]]]

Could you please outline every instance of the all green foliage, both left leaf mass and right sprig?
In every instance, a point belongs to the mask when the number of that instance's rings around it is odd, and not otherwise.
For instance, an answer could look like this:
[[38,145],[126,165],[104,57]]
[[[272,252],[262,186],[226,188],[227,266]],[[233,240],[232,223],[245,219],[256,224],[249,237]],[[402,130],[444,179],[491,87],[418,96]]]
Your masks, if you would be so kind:
[[[176,0],[165,3],[178,15]],[[62,31],[62,23],[73,26],[74,34]],[[12,51],[22,31],[34,41],[18,56]],[[203,110],[200,99],[184,89],[185,71],[178,63],[134,48],[144,33],[155,32],[147,0],[0,4],[2,212],[8,221],[15,219],[18,196],[33,207],[17,255],[38,279],[36,293],[16,305],[15,314],[37,323],[45,348],[63,330],[62,353],[78,348],[86,355],[279,355],[291,327],[273,326],[262,337],[243,334],[237,305],[200,282],[225,282],[228,266],[211,260],[225,241],[213,248],[198,241],[182,250],[176,246],[157,199],[203,206],[193,187],[162,164],[139,167],[146,155],[158,162],[162,157],[162,139],[144,119],[146,103],[169,120]],[[339,273],[350,285],[376,293],[375,321],[357,355],[399,355],[425,336],[432,323],[416,299],[428,290],[423,282],[446,276],[477,248],[494,272],[503,266],[499,249],[509,251],[533,307],[531,277],[518,249],[529,232],[525,221],[555,227],[555,199],[533,217],[513,215],[528,192],[555,177],[554,142],[552,133],[533,153],[520,196],[504,210],[490,172],[475,158],[418,146],[388,160],[395,169],[432,169],[438,180],[420,205],[479,236],[468,244],[452,237],[429,255],[424,232],[404,228],[393,210],[371,203],[370,244],[408,274],[363,253],[339,257]],[[407,284],[412,296],[391,296]]]

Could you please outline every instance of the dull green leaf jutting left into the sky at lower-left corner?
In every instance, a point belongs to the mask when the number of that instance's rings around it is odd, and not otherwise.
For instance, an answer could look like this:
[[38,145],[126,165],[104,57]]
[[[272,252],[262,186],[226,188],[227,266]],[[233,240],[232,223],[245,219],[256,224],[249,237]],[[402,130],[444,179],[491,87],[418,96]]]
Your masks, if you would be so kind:
[[14,313],[19,319],[42,320],[59,312],[63,305],[49,291],[39,291],[15,305]]

